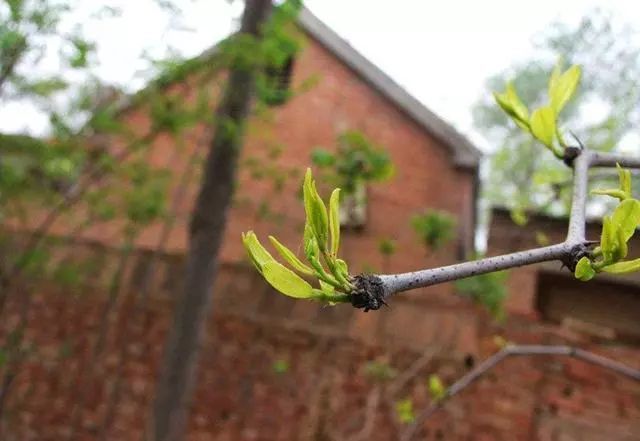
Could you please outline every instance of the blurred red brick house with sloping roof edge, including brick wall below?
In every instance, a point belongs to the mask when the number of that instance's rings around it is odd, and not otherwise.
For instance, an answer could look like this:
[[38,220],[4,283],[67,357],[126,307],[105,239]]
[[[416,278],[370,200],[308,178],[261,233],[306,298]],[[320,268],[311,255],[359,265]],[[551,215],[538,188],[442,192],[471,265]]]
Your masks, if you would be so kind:
[[[283,153],[275,163],[304,170],[313,148],[331,148],[340,133],[359,130],[387,147],[397,173],[389,182],[370,185],[365,224],[344,233],[343,255],[352,271],[407,271],[468,256],[476,226],[478,151],[309,11],[302,11],[298,23],[306,44],[290,65],[291,87],[314,76],[319,81],[272,109],[267,132],[264,127],[250,131],[243,163],[266,161],[271,147],[281,144]],[[172,87],[189,94],[188,82]],[[136,106],[124,109],[123,118],[132,127],[149,124],[146,111]],[[261,124],[256,120],[253,126]],[[186,137],[191,143],[182,149],[161,136],[149,161],[177,176],[203,144],[197,140],[206,135],[204,127],[193,129]],[[396,403],[409,397],[416,412],[427,406],[427,375],[438,372],[447,382],[455,380],[496,350],[496,333],[518,342],[588,342],[539,321],[531,308],[522,309],[519,303],[531,299],[520,300],[528,295],[520,285],[509,305],[513,318],[501,327],[454,296],[450,284],[398,296],[391,307],[366,314],[276,294],[246,263],[240,232],[253,228],[261,237],[274,234],[295,249],[303,222],[296,197],[300,176],[288,179],[275,195],[269,181],[256,180],[250,168],[241,171],[189,439],[395,439],[403,430]],[[144,232],[117,298],[89,286],[92,295],[70,296],[50,284],[34,296],[28,337],[39,357],[16,379],[17,392],[8,405],[11,417],[5,427],[14,439],[141,438],[171,305],[179,292],[196,185],[175,205],[175,222],[160,253],[156,247],[162,226]],[[261,216],[264,201],[269,213],[282,216]],[[450,246],[426,256],[409,224],[424,208],[455,215],[458,233]],[[58,225],[54,230],[64,229]],[[379,251],[381,239],[396,241],[398,251],[391,258]],[[79,259],[101,256],[95,274],[99,280],[117,260],[109,247],[117,240],[115,230],[96,228],[69,246]],[[493,249],[501,251],[503,245],[496,243]],[[159,261],[153,255],[160,255]],[[140,303],[137,290],[149,268],[153,289]],[[513,274],[511,280],[519,280],[520,273]],[[634,350],[614,355],[638,359]],[[419,439],[640,436],[638,385],[566,360],[514,360],[496,373],[447,405],[422,428]]]

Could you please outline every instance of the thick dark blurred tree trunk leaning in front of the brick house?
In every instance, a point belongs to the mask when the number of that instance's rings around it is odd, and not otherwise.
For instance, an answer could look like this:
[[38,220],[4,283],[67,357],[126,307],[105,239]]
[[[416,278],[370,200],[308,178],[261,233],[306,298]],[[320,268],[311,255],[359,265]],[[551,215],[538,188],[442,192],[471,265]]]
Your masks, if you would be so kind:
[[[246,0],[240,33],[260,38],[260,28],[270,10],[271,0]],[[224,237],[254,83],[255,69],[230,66],[226,91],[216,110],[214,137],[189,228],[184,292],[176,304],[156,391],[151,427],[155,441],[178,441],[186,431],[201,336],[211,313],[216,258]]]

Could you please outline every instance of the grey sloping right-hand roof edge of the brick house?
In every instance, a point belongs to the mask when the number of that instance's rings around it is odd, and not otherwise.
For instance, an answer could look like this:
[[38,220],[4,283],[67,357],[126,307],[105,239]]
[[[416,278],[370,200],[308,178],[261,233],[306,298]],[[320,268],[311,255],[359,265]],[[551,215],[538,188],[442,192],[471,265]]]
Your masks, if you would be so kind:
[[309,36],[322,44],[380,94],[446,145],[453,153],[456,165],[471,168],[478,166],[482,153],[476,146],[453,126],[427,109],[308,9],[302,8],[298,15],[298,23]]

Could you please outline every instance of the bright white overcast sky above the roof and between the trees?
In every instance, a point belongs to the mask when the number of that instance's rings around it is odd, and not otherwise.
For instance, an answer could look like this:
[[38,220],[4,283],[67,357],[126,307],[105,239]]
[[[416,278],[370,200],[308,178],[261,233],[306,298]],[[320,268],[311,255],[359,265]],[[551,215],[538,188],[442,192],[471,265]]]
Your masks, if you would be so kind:
[[[87,35],[96,40],[99,75],[133,88],[143,84],[140,59],[171,45],[187,56],[212,46],[233,29],[242,8],[236,0],[185,1],[185,31],[167,32],[169,17],[152,0],[116,0],[124,14],[89,22],[79,13]],[[82,2],[95,10],[98,2]],[[470,136],[471,106],[489,93],[484,82],[513,61],[526,59],[532,41],[556,20],[576,23],[601,7],[619,19],[640,24],[635,0],[307,0],[306,6],[356,49],[393,77],[427,107]],[[390,6],[393,4],[393,6]],[[80,18],[82,17],[82,18]],[[69,23],[70,27],[75,23]],[[137,75],[137,76],[136,76]],[[0,128],[41,130],[42,120],[24,106],[0,109]]]

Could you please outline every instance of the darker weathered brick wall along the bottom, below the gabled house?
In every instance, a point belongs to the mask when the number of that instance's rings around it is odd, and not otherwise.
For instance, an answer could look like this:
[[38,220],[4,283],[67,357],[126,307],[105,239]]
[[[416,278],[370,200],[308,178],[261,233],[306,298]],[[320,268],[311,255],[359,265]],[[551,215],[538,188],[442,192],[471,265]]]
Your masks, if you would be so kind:
[[[88,248],[79,252],[101,254],[103,268],[118,258]],[[125,286],[140,285],[150,259],[132,257]],[[14,380],[3,439],[141,439],[181,265],[178,256],[156,261],[146,299],[135,289],[110,298],[104,288],[36,288],[25,335],[31,353]],[[531,315],[498,326],[435,290],[363,313],[291,300],[253,269],[226,264],[215,291],[190,440],[396,439],[404,425],[395,403],[428,406],[428,376],[455,381],[497,350],[495,335],[575,344],[640,366],[636,347],[598,344]],[[3,330],[20,307],[14,297]],[[394,378],[369,374],[372,361],[392,367]],[[635,440],[639,416],[638,383],[570,359],[515,358],[451,400],[416,439]]]

